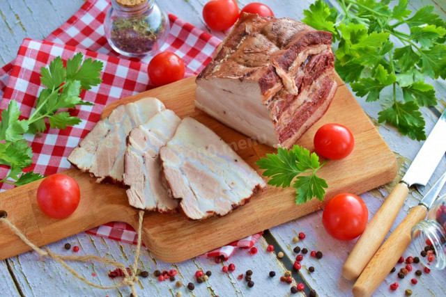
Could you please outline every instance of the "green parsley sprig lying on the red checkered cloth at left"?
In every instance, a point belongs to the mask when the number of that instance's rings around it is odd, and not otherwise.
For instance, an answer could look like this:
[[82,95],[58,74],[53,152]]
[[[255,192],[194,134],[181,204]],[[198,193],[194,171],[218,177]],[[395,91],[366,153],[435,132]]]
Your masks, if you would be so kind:
[[33,161],[33,152],[24,134],[40,134],[49,127],[66,129],[67,126],[79,124],[81,120],[73,117],[68,111],[77,105],[93,105],[82,101],[79,97],[81,90],[90,90],[91,86],[98,86],[102,81],[100,72],[102,62],[86,59],[81,53],[68,59],[66,67],[61,57],[55,58],[49,67],[40,68],[40,82],[45,86],[38,96],[36,109],[28,119],[19,120],[22,113],[15,100],[11,100],[7,109],[1,112],[0,122],[0,164],[10,167],[8,175],[0,180],[8,184],[20,186],[40,179],[36,172],[23,173],[23,169]]

